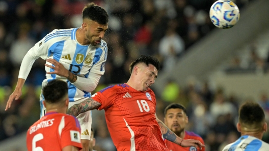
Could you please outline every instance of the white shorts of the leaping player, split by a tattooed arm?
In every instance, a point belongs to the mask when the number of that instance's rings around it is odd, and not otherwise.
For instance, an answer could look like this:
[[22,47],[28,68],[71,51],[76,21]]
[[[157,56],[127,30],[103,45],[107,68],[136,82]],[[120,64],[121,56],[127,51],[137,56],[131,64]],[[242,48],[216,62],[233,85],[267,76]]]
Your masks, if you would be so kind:
[[[87,98],[83,98],[80,100],[77,100],[75,102],[69,102],[68,107],[71,107],[74,104],[80,103],[84,101]],[[81,139],[88,139],[90,140],[91,137],[91,128],[92,128],[92,111],[86,111],[82,114],[79,114],[77,117],[77,120],[80,124],[81,129]]]

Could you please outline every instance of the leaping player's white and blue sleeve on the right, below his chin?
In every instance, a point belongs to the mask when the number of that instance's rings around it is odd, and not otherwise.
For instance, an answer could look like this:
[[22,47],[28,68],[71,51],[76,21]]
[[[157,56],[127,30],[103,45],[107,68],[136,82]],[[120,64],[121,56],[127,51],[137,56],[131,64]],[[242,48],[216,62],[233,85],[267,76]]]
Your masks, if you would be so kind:
[[90,72],[97,73],[97,74],[104,74],[104,64],[107,58],[107,46],[104,41],[101,43],[101,47],[96,48],[95,52],[96,56],[99,56],[99,58],[96,58],[93,60],[93,66],[90,70]]

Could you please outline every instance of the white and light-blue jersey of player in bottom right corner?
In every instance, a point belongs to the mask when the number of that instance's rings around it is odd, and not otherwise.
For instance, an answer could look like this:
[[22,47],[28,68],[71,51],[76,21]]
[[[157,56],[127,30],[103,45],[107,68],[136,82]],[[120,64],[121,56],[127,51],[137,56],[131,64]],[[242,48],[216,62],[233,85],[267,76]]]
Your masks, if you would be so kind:
[[243,135],[235,142],[226,145],[223,151],[266,151],[269,144],[249,135]]

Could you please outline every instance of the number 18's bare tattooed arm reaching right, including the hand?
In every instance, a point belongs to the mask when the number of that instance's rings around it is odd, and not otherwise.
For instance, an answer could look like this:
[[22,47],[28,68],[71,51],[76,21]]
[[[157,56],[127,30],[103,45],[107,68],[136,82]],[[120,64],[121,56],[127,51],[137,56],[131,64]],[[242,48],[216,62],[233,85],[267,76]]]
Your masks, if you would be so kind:
[[189,146],[194,146],[194,147],[205,147],[204,144],[202,144],[199,140],[195,140],[195,139],[182,139],[180,137],[178,137],[174,132],[172,132],[162,121],[160,121],[156,114],[156,121],[160,127],[160,130],[162,131],[162,134],[164,136],[165,139],[172,141],[182,147],[189,147]]

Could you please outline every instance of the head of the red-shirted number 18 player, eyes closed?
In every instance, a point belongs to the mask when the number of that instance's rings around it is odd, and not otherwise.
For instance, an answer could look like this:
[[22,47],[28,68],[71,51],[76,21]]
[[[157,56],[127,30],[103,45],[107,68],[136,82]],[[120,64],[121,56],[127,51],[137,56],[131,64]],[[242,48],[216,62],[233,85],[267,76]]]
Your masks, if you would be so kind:
[[160,64],[153,56],[144,56],[134,60],[129,67],[131,78],[136,81],[140,91],[146,91],[157,78]]

